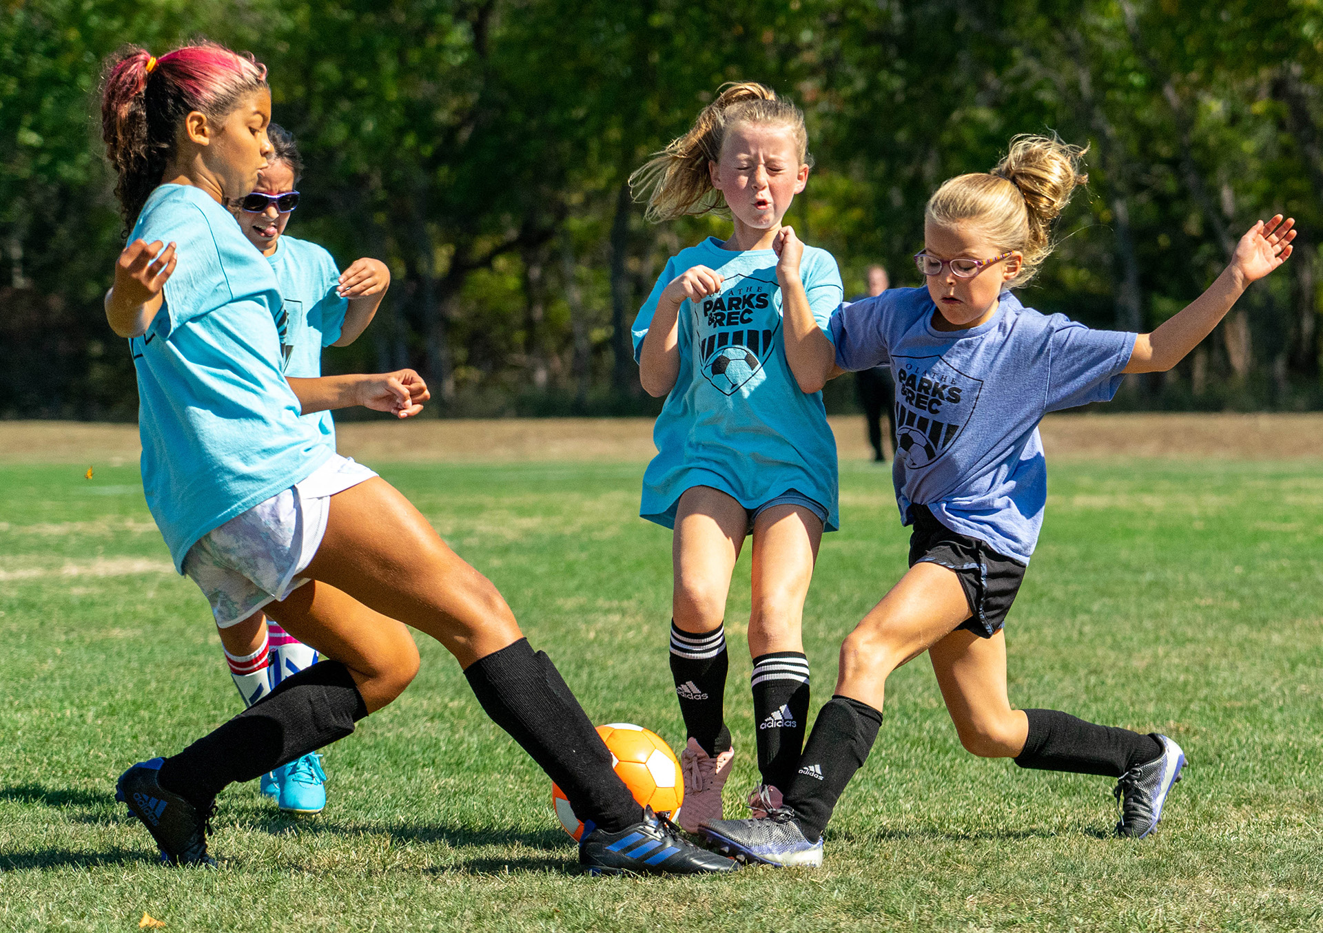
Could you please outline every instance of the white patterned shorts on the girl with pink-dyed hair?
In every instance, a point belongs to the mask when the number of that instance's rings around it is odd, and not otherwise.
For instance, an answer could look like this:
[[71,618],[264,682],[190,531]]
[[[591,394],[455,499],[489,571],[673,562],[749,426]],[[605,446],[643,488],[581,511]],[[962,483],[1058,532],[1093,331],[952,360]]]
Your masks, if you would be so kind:
[[308,478],[208,531],[188,548],[184,572],[212,604],[216,625],[237,625],[307,583],[299,574],[312,563],[325,535],[331,497],[374,476],[363,464],[332,455]]

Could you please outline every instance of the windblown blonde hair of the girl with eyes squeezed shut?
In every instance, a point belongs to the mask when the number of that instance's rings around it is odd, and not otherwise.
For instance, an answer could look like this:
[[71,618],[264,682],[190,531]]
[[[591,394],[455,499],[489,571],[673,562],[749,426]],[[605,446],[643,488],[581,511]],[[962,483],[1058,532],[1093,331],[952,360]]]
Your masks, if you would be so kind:
[[774,90],[755,81],[728,81],[717,89],[717,99],[703,108],[684,136],[671,140],[630,176],[635,200],[647,201],[647,219],[673,221],[685,214],[706,214],[725,207],[721,193],[712,188],[708,163],[721,159],[726,132],[742,123],[790,127],[799,149],[799,164],[812,165],[808,131],[799,107],[779,99]]

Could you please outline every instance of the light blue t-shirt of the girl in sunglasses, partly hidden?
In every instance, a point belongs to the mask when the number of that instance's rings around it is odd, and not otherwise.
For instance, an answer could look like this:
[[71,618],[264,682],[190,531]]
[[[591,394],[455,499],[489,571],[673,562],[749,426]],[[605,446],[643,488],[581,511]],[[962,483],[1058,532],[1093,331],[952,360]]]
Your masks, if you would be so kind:
[[[321,348],[340,340],[349,299],[336,295],[340,270],[331,254],[316,243],[282,235],[275,252],[266,258],[284,297],[279,322],[284,374],[300,379],[321,375]],[[335,422],[329,411],[308,415],[321,437],[335,449]]]

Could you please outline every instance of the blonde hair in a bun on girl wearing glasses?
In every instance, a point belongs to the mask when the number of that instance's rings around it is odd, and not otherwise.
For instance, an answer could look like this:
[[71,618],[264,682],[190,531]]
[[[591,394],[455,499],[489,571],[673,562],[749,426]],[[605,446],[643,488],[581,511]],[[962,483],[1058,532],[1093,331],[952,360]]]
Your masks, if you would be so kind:
[[998,252],[1023,254],[1020,274],[1007,287],[1023,285],[1052,255],[1052,225],[1076,186],[1089,181],[1080,170],[1086,152],[1088,147],[1062,143],[1056,135],[1015,136],[991,172],[957,176],[938,188],[925,217],[942,225],[976,223]]

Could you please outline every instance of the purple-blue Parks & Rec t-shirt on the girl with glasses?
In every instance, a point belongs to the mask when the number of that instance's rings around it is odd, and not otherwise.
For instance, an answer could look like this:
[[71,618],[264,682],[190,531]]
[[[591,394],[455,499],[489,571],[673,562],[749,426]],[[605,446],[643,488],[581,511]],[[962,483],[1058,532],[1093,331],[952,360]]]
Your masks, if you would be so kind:
[[901,518],[926,505],[953,531],[1029,562],[1048,497],[1039,422],[1049,411],[1109,402],[1135,334],[1044,316],[1002,292],[992,320],[935,330],[926,288],[894,288],[831,318],[836,365],[890,366]]

